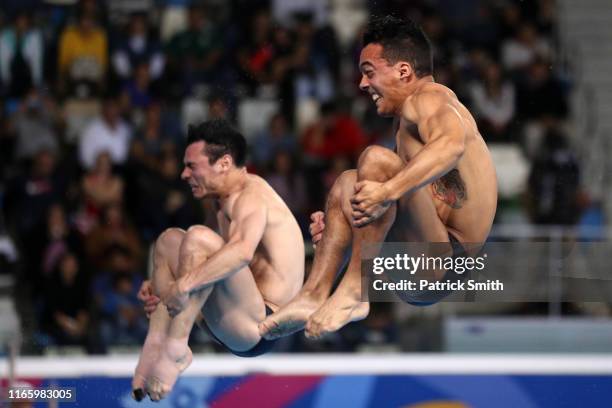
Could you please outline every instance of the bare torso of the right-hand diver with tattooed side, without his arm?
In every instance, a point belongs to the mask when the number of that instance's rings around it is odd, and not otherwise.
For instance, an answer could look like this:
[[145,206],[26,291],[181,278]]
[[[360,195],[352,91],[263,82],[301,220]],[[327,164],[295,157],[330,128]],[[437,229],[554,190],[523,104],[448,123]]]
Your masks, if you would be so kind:
[[[437,83],[427,83],[406,103],[414,101],[422,92],[444,93],[466,131],[465,150],[456,168],[424,188],[429,188],[438,215],[450,232],[462,242],[483,242],[497,208],[497,176],[489,149],[474,118],[453,91]],[[402,118],[396,142],[399,156],[408,162],[426,141],[421,139],[416,123]]]

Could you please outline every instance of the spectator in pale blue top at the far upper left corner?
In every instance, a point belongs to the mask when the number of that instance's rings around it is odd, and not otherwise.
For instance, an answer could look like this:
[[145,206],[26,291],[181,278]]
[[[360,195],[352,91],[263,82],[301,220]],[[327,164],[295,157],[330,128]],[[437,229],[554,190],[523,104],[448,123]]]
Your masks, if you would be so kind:
[[43,38],[25,11],[0,32],[0,80],[9,97],[25,96],[43,82]]

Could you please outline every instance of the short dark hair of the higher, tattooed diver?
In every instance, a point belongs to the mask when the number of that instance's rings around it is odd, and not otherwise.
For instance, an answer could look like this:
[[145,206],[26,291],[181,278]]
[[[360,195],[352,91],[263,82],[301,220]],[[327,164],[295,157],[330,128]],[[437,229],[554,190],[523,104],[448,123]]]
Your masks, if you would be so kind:
[[407,61],[417,77],[433,74],[433,54],[429,38],[412,20],[394,16],[375,16],[363,34],[363,46],[380,44],[390,63]]

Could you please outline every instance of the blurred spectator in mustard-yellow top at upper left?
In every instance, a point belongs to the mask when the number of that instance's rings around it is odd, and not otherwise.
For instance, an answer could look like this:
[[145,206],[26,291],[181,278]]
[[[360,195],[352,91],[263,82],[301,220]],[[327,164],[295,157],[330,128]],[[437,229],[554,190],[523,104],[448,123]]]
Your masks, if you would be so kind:
[[63,31],[57,60],[60,91],[80,98],[101,93],[108,69],[108,43],[92,13],[81,11],[78,23]]

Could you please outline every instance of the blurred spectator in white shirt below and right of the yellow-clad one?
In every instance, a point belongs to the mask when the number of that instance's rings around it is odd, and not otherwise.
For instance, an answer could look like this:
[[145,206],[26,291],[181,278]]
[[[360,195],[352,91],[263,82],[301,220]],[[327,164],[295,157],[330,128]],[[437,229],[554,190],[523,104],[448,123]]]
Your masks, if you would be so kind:
[[117,98],[107,97],[102,117],[93,121],[79,140],[79,162],[83,168],[93,168],[96,157],[102,152],[108,152],[115,165],[122,165],[127,160],[131,129],[119,113]]

